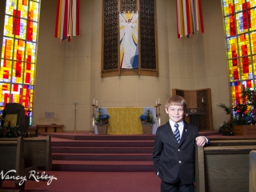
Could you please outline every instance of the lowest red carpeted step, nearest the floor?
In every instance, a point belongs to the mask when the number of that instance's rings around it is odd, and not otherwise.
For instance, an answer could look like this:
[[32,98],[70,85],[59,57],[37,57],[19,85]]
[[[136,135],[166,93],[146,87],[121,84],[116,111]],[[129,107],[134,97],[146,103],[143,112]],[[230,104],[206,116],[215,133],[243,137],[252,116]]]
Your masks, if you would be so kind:
[[109,172],[137,172],[137,171],[152,171],[152,161],[142,162],[119,162],[119,161],[53,161],[52,170],[64,171],[109,171]]

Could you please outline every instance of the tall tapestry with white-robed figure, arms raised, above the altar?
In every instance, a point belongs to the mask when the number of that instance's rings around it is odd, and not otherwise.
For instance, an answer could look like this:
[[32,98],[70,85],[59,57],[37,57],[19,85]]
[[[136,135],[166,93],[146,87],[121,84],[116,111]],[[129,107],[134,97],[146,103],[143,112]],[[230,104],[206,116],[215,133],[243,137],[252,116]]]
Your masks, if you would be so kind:
[[120,68],[138,68],[138,12],[120,13]]

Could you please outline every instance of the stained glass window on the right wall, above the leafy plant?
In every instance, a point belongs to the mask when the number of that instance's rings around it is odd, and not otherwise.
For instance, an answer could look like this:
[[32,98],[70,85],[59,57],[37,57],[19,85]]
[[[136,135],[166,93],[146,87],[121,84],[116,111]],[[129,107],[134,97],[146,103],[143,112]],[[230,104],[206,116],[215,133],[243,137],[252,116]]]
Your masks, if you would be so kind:
[[256,88],[256,0],[222,0],[232,105]]

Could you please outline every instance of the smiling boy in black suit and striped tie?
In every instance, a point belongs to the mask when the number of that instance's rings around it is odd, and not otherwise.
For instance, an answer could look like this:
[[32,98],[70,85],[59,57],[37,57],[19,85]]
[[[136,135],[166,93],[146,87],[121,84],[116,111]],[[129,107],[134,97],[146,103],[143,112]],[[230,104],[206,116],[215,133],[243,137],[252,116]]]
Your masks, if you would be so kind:
[[186,101],[174,95],[166,101],[169,122],[159,126],[154,140],[154,171],[162,179],[162,192],[194,192],[194,146],[208,139],[198,136],[196,126],[183,121]]

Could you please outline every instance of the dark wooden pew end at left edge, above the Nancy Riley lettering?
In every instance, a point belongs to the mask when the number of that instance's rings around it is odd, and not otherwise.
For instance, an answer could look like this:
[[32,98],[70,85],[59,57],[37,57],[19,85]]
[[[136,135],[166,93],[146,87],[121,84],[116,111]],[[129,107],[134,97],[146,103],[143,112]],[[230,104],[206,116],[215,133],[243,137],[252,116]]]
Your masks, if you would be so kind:
[[[16,141],[0,141],[0,170],[3,174],[9,172],[9,177],[26,177],[29,178],[30,171],[38,171],[37,166],[25,168],[24,160],[24,141],[23,138],[16,138]],[[14,171],[16,170],[16,173]],[[25,182],[20,185],[22,179],[15,179],[15,186],[24,190]],[[2,186],[2,177],[0,178],[0,186]]]

